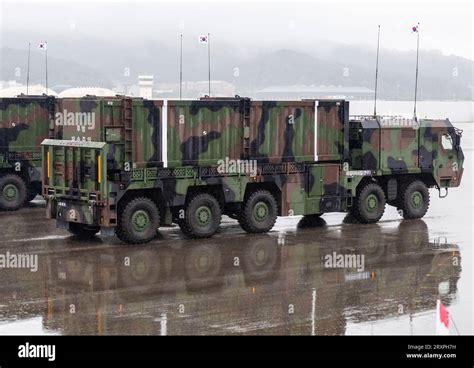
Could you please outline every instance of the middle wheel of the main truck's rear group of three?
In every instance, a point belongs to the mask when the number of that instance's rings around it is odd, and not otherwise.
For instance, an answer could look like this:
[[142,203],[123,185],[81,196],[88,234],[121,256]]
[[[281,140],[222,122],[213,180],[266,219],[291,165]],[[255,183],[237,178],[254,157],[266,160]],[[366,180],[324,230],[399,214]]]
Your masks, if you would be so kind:
[[222,210],[217,199],[207,193],[195,195],[186,205],[185,218],[178,222],[181,231],[191,238],[209,238],[221,223]]

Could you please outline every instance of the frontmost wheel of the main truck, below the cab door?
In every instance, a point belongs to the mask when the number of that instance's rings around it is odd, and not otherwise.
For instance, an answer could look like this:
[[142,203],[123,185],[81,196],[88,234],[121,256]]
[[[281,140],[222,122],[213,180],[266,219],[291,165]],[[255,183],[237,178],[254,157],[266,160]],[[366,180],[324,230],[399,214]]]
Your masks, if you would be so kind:
[[415,180],[403,188],[398,209],[403,211],[403,218],[421,218],[428,211],[430,192],[425,183]]

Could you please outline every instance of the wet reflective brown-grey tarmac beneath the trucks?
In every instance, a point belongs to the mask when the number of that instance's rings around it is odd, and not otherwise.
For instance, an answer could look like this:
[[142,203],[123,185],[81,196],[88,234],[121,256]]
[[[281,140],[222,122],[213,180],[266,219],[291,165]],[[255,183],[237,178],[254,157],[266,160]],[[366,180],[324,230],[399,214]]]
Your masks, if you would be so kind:
[[[248,235],[224,218],[211,239],[165,228],[132,247],[69,236],[39,199],[0,213],[0,334],[434,334],[437,299],[451,334],[473,334],[473,140],[460,128],[463,183],[432,190],[422,220],[387,207],[374,225],[327,214]],[[33,257],[14,268],[20,254]]]

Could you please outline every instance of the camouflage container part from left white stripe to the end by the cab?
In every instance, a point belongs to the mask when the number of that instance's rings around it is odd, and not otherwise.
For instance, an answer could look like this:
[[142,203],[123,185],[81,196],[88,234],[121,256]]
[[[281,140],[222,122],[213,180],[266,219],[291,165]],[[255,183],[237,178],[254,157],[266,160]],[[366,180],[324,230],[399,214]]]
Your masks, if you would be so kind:
[[212,166],[225,158],[261,163],[338,161],[347,147],[344,101],[204,98],[165,104],[169,167]]

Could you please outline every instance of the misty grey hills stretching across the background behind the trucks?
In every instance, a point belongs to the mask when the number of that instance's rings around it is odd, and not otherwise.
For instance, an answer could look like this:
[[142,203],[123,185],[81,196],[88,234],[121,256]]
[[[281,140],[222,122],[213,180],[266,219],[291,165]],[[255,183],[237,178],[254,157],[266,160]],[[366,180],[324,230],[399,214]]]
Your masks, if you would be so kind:
[[[21,37],[20,37],[21,39]],[[27,50],[1,50],[0,79],[26,80]],[[112,87],[136,84],[140,74],[153,74],[155,82],[177,82],[179,43],[171,47],[148,38],[111,42],[98,38],[61,39],[48,42],[49,85]],[[32,45],[33,48],[33,45]],[[251,94],[275,85],[340,85],[374,88],[375,50],[354,45],[325,44],[324,49],[289,48],[243,52],[228,44],[212,44],[212,79],[237,86],[239,94]],[[247,51],[247,50],[245,50]],[[381,49],[379,95],[383,99],[413,98],[415,52]],[[207,79],[207,47],[185,44],[184,80]],[[22,76],[15,77],[20,66]],[[238,75],[235,73],[238,68]],[[420,99],[472,99],[474,62],[439,51],[420,52]],[[129,71],[129,74],[126,73]],[[44,54],[32,51],[31,80],[44,81]]]

